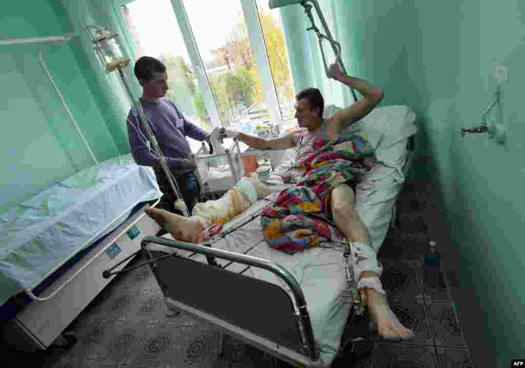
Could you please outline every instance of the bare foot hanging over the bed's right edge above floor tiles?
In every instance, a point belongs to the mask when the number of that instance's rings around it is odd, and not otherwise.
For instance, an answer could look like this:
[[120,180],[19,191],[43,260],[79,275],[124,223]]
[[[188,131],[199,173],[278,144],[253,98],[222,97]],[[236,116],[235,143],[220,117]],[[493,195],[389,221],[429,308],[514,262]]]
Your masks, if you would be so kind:
[[377,334],[385,340],[401,341],[412,339],[414,331],[405,328],[397,319],[392,309],[388,306],[386,295],[374,289],[367,289],[366,291],[370,315],[374,320],[371,322],[371,327],[372,324],[377,326]]

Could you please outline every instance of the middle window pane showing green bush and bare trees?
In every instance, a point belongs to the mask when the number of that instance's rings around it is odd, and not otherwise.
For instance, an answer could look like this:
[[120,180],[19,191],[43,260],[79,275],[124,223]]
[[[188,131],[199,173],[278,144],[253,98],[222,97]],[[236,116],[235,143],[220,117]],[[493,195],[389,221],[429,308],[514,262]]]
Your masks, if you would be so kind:
[[275,135],[239,0],[183,0],[225,127]]

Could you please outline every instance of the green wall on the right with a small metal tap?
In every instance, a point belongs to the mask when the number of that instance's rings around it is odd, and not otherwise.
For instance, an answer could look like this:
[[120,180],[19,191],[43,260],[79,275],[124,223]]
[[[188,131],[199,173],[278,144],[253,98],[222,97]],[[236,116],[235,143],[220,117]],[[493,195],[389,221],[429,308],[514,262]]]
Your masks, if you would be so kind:
[[[349,72],[386,90],[385,104],[418,114],[415,179],[434,186],[428,215],[474,366],[508,366],[523,356],[525,285],[522,218],[525,153],[525,2],[398,0],[333,2]],[[344,29],[343,29],[344,28]],[[500,107],[506,145],[479,125],[491,102],[497,65],[509,67]],[[426,158],[426,159],[425,159]]]

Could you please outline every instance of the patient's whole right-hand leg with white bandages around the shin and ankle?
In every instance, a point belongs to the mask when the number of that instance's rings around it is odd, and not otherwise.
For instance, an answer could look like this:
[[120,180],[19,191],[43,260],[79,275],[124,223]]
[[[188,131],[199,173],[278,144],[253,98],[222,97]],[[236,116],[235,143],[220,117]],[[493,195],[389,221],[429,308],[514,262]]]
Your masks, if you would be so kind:
[[412,338],[414,332],[405,328],[388,306],[386,293],[379,280],[383,269],[371,247],[370,234],[353,209],[352,189],[346,184],[334,188],[330,204],[335,225],[345,238],[352,241],[354,277],[358,280],[361,302],[369,306],[372,319],[377,321],[377,333],[388,340]]

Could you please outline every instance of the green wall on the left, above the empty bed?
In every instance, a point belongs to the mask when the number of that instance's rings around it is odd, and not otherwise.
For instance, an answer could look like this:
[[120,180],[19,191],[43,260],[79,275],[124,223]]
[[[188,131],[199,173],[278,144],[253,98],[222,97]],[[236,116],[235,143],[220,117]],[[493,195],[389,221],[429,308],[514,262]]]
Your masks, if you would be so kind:
[[[116,2],[117,4],[118,2]],[[2,10],[0,38],[26,38],[82,32],[86,24],[109,26],[122,35],[124,56],[134,60],[116,4],[104,0],[51,0],[31,5],[11,2]],[[120,3],[118,3],[120,5]],[[99,162],[130,153],[125,118],[130,108],[117,72],[107,74],[87,33],[62,43],[0,47],[0,117],[5,134],[0,152],[0,213],[45,190],[57,181],[94,164],[75,125],[41,67],[48,66],[71,114]],[[140,86],[133,66],[124,68],[134,97]]]

